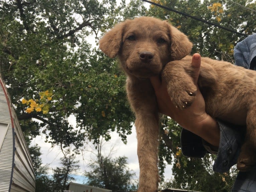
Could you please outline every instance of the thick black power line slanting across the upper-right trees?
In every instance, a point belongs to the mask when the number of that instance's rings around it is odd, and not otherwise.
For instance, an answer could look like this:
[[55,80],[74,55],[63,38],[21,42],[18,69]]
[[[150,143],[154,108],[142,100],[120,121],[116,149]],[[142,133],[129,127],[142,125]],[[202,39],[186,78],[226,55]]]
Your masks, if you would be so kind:
[[160,5],[160,4],[151,2],[151,1],[147,1],[147,0],[142,0],[142,1],[147,2],[147,3],[150,3],[150,4],[155,5],[155,6],[158,6],[158,7],[161,7],[161,8],[163,8],[163,9],[167,9],[167,10],[169,10],[169,11],[173,11],[173,12],[175,12],[175,13],[184,15],[184,16],[186,16],[186,17],[190,17],[190,18],[196,19],[196,20],[198,20],[198,21],[207,23],[207,24],[209,24],[209,25],[213,25],[213,26],[216,26],[216,27],[219,27],[219,28],[228,30],[228,31],[230,31],[230,32],[233,32],[233,33],[242,35],[242,36],[244,36],[244,37],[247,37],[247,36],[248,36],[248,35],[246,35],[246,34],[244,34],[244,33],[237,32],[237,31],[235,31],[235,30],[233,30],[233,29],[229,29],[229,28],[227,28],[227,27],[223,27],[223,26],[221,26],[221,25],[219,25],[219,24],[215,24],[215,23],[213,23],[213,22],[210,22],[210,21],[207,21],[207,20],[204,20],[204,19],[200,19],[200,18],[197,18],[197,17],[192,16],[192,15],[188,15],[188,14],[186,14],[186,13],[177,11],[177,10],[175,10],[175,9],[171,9],[171,8],[169,8],[169,7],[165,7],[165,6],[163,6],[163,5]]

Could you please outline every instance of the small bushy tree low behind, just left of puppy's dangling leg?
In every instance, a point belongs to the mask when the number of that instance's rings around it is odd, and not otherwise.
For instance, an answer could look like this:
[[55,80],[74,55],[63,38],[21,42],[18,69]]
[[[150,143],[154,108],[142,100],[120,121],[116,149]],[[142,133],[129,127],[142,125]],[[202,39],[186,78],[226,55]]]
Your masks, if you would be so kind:
[[102,154],[103,140],[96,145],[97,158],[91,160],[89,168],[91,171],[86,171],[86,184],[110,189],[112,191],[134,191],[137,189],[137,184],[132,181],[133,173],[128,168],[127,157],[117,157],[112,159],[111,152],[107,156]]

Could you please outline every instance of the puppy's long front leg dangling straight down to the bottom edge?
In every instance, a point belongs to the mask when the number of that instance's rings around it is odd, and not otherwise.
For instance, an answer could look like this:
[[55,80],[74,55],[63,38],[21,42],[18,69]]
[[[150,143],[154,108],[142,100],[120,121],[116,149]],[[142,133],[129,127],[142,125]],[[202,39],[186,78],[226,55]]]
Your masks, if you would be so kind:
[[127,93],[136,115],[137,154],[140,166],[138,192],[158,189],[158,113],[154,90],[150,81],[127,80]]

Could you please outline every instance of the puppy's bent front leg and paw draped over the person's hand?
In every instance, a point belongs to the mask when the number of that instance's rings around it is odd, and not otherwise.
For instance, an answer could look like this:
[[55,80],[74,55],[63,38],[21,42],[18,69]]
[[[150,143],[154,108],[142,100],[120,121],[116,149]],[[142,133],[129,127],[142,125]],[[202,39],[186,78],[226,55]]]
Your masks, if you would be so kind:
[[171,61],[163,69],[162,80],[166,81],[171,101],[177,108],[189,107],[196,98],[197,87],[192,73],[191,66],[181,60]]

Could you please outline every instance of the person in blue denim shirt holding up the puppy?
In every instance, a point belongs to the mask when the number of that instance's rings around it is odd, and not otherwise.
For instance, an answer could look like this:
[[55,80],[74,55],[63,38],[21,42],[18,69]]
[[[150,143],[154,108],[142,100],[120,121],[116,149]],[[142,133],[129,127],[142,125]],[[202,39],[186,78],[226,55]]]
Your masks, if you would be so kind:
[[[256,70],[256,33],[237,43],[234,48],[235,64]],[[194,81],[197,84],[201,56],[193,55]],[[202,158],[208,152],[217,154],[213,165],[216,172],[227,172],[236,164],[244,139],[244,130],[213,119],[205,111],[205,101],[198,88],[193,104],[185,110],[176,108],[167,93],[166,82],[151,77],[160,113],[171,117],[184,129],[181,132],[181,150],[188,157]],[[255,138],[256,139],[256,138]],[[248,172],[239,172],[232,192],[256,191],[256,165]]]

